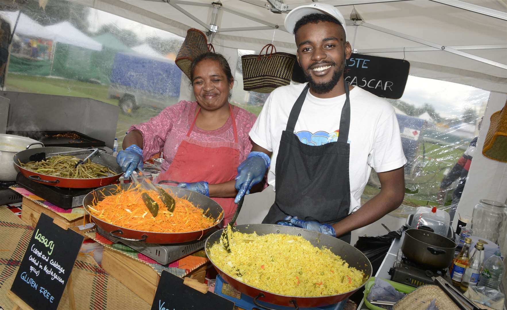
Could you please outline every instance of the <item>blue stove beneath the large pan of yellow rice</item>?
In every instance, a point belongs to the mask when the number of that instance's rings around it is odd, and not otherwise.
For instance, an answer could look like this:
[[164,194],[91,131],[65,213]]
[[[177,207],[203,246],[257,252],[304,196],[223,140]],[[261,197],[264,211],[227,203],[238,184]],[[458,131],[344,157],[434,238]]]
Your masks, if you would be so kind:
[[[216,282],[215,282],[215,290],[214,293],[217,295],[220,295],[226,299],[229,299],[230,301],[234,302],[234,304],[242,309],[245,310],[263,310],[263,307],[256,306],[253,303],[253,298],[241,293],[240,291],[236,290],[232,286],[230,286],[227,282],[220,277],[220,275],[216,276]],[[294,310],[294,307],[286,307],[286,306],[279,306],[267,302],[258,301],[261,305],[265,305],[268,309],[274,308],[274,309],[280,309],[280,310]],[[328,306],[322,306],[317,308],[299,308],[300,310],[335,310],[337,309],[338,304],[332,304]]]

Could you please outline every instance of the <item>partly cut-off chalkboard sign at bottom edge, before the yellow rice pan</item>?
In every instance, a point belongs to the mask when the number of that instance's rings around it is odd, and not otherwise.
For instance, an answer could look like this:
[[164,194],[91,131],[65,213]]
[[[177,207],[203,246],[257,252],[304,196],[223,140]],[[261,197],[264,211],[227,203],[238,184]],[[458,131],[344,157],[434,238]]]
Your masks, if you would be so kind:
[[162,272],[152,310],[223,309],[233,310],[234,302],[211,292],[203,294],[183,284],[183,279]]

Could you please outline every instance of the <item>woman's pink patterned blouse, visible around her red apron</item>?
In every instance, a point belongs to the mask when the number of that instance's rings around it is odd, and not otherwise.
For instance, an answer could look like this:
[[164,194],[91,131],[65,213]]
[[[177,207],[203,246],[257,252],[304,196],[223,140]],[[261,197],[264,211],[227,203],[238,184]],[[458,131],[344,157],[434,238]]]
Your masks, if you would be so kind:
[[[164,162],[161,168],[164,171],[169,168],[179,144],[187,135],[190,125],[192,125],[196,108],[196,101],[180,101],[166,107],[148,122],[130,127],[129,131],[136,129],[142,134],[142,154],[145,161],[163,150]],[[232,112],[236,119],[240,149],[239,162],[241,163],[246,159],[252,147],[248,132],[253,126],[256,116],[238,106],[234,106]],[[216,130],[207,131],[194,126],[190,137],[202,142],[234,142],[231,118],[227,120],[224,126]],[[177,181],[183,182],[186,180]]]

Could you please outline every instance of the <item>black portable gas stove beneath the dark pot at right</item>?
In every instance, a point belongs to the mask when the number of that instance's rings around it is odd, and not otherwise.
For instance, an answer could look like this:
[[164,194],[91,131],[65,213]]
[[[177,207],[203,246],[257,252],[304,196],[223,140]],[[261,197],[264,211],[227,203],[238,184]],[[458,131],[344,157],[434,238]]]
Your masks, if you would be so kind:
[[389,269],[391,281],[419,287],[421,285],[433,284],[431,277],[441,276],[448,279],[447,269],[430,269],[428,267],[410,261],[403,255],[402,250],[398,250],[394,265]]

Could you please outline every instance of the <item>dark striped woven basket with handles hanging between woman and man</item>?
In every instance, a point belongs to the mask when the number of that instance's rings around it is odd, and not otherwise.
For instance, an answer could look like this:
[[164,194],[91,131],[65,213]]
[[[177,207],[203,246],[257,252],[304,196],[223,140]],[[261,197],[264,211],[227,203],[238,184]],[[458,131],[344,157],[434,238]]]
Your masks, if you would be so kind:
[[[262,55],[264,49],[266,49],[266,54]],[[277,87],[291,84],[295,61],[296,55],[276,52],[272,44],[264,46],[259,55],[241,56],[243,89],[266,94]]]

